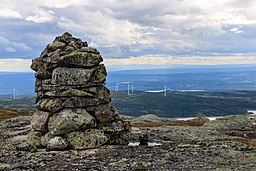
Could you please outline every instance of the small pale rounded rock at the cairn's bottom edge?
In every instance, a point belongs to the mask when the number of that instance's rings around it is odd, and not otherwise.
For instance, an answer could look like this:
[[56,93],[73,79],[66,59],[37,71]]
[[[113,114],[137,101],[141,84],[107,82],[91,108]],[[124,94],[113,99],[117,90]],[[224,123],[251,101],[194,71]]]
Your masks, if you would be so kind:
[[59,136],[52,138],[47,144],[47,150],[64,150],[68,147],[67,141]]

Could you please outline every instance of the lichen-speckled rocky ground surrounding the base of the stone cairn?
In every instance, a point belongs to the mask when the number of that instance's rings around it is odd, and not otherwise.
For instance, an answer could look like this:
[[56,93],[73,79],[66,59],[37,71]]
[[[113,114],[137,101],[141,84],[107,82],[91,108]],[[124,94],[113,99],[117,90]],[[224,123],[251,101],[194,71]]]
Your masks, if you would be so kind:
[[81,151],[21,150],[31,116],[0,122],[0,170],[256,170],[256,116],[175,121],[147,115],[131,121],[129,142],[148,135],[160,146],[103,146]]

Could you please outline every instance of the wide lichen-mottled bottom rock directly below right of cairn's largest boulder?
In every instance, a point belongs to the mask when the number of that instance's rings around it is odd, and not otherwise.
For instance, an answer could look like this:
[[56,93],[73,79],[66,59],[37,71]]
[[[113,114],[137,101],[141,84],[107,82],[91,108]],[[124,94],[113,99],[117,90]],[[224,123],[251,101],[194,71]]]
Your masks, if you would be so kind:
[[102,130],[88,129],[66,135],[69,146],[75,150],[100,147],[108,141]]

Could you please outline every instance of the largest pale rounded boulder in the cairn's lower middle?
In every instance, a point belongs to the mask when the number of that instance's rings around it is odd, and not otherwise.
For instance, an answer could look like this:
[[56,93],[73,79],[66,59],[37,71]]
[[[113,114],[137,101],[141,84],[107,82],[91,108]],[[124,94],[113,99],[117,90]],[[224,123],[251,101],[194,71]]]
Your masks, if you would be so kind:
[[48,129],[52,135],[84,130],[96,126],[95,118],[85,109],[64,109],[49,119]]

